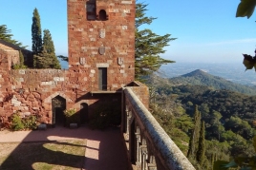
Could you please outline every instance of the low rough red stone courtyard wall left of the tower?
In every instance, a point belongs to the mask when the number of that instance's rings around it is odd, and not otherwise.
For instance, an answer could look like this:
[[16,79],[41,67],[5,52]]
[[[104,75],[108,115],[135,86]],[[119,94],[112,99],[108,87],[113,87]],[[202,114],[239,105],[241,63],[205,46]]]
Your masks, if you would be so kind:
[[[42,123],[51,123],[51,97],[70,99],[64,93],[68,88],[67,70],[18,69],[0,73],[0,112],[5,119],[20,111],[23,115],[40,115]],[[51,98],[52,99],[52,98]],[[1,114],[3,115],[3,114]],[[7,121],[7,120],[6,120]]]

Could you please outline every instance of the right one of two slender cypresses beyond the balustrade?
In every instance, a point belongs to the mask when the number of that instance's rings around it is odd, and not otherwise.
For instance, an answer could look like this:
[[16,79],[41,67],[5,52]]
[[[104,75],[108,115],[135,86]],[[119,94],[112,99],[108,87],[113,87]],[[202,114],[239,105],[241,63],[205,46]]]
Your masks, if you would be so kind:
[[205,134],[205,125],[204,122],[201,123],[201,129],[200,129],[200,138],[198,142],[198,151],[197,151],[197,161],[200,163],[200,165],[203,165],[203,161],[205,159],[205,139],[204,139],[204,134]]

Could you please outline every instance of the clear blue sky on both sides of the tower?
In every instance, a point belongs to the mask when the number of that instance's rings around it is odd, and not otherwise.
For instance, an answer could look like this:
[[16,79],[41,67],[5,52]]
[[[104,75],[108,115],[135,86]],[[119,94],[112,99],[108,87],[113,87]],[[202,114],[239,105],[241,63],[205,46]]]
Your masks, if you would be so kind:
[[[0,0],[0,25],[13,38],[32,46],[32,11],[37,8],[42,30],[51,31],[56,54],[68,54],[66,0]],[[157,17],[149,26],[159,35],[177,40],[161,57],[176,62],[242,63],[243,53],[254,55],[256,12],[250,19],[236,18],[240,0],[139,0],[148,4],[147,16]]]

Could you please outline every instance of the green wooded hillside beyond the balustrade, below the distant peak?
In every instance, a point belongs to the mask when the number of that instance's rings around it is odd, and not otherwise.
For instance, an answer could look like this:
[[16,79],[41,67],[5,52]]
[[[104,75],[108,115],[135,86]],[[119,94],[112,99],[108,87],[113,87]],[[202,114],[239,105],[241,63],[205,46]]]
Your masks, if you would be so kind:
[[[183,114],[192,117],[195,111],[192,104],[199,105],[205,123],[205,157],[203,164],[196,158],[188,158],[196,169],[211,169],[216,160],[228,162],[232,157],[252,158],[256,96],[202,85],[173,85],[160,77],[151,76],[148,82],[154,89],[151,91],[152,114],[183,153],[188,150],[191,130],[186,132],[179,119]],[[180,111],[176,113],[175,110]]]

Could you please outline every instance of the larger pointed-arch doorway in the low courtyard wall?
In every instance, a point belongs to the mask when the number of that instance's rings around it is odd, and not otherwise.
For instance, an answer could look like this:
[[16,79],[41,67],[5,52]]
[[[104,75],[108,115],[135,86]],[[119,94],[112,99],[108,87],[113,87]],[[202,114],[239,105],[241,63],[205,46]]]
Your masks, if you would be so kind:
[[61,96],[56,96],[52,99],[52,111],[53,111],[53,127],[55,125],[65,124],[64,110],[66,109],[66,100]]

